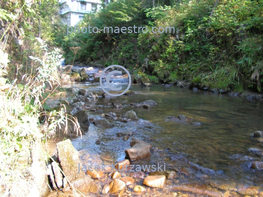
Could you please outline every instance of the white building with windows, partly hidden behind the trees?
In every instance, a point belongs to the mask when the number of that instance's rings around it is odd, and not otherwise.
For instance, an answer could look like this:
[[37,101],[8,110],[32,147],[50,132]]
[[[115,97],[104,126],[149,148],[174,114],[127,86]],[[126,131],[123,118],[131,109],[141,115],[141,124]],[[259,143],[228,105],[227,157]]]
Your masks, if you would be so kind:
[[58,0],[62,22],[68,26],[75,24],[84,17],[85,13],[95,13],[101,6],[100,0]]

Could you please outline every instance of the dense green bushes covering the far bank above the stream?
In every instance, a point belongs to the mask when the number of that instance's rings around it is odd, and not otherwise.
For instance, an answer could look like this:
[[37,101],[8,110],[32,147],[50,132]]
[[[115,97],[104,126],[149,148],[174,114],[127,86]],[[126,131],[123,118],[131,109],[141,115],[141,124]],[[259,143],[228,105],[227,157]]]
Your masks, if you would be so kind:
[[118,63],[159,78],[167,70],[178,80],[198,77],[215,87],[262,91],[262,1],[180,0],[155,6],[116,0],[96,15],[86,15],[78,26],[169,26],[175,33],[73,33],[63,45],[68,61],[69,47],[80,46],[77,61],[86,64]]

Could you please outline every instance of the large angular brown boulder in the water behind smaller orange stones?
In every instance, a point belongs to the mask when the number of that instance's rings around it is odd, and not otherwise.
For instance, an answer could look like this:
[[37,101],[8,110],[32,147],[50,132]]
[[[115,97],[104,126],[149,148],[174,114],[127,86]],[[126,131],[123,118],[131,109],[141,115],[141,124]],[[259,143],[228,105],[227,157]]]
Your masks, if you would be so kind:
[[131,148],[126,149],[125,154],[131,161],[134,161],[149,156],[150,148],[145,143],[136,143]]

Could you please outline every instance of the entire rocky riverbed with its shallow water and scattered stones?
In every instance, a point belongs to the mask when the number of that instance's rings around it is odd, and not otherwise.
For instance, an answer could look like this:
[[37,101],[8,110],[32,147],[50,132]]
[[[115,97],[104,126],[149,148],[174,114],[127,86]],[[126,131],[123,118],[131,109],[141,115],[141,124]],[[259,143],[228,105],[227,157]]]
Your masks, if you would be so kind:
[[[99,69],[87,68],[87,75],[88,71],[94,72],[93,80],[66,85],[62,97],[47,101],[51,108],[63,103],[78,119],[82,137],[76,137],[74,127],[64,135],[77,151],[79,163],[166,163],[166,170],[131,172],[128,167],[123,172],[108,168],[94,173],[84,169],[89,179],[82,183],[91,180],[93,185],[90,191],[76,184],[84,196],[263,197],[263,138],[262,132],[256,132],[263,130],[260,95],[185,89],[188,84],[182,82],[184,87],[132,85],[126,95],[110,97],[94,83]],[[125,90],[126,76],[114,77],[113,86]],[[53,153],[63,169],[59,153]],[[78,166],[73,168],[69,175],[77,172]],[[73,195],[63,184],[61,189],[51,196]]]

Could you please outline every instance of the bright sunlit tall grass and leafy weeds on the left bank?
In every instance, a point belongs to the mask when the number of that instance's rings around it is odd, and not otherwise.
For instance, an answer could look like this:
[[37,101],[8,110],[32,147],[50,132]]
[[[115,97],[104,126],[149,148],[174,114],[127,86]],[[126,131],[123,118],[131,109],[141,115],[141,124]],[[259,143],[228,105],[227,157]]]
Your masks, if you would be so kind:
[[[44,112],[44,101],[60,84],[58,49],[49,52],[38,38],[41,57],[30,56],[33,68],[27,73],[17,67],[14,74],[8,54],[0,50],[0,194],[2,197],[26,197],[39,191],[45,179],[45,162],[49,159],[43,143],[56,134],[56,127],[72,119],[66,107]],[[10,73],[11,72],[11,73]],[[10,78],[10,76],[22,76]],[[42,125],[39,116],[45,115]],[[75,120],[76,121],[76,120]],[[67,126],[65,126],[65,130]],[[79,124],[75,129],[80,132]],[[81,132],[80,132],[81,133]],[[41,180],[42,179],[42,180]],[[37,194],[36,194],[37,195]],[[37,195],[38,196],[38,195]]]

